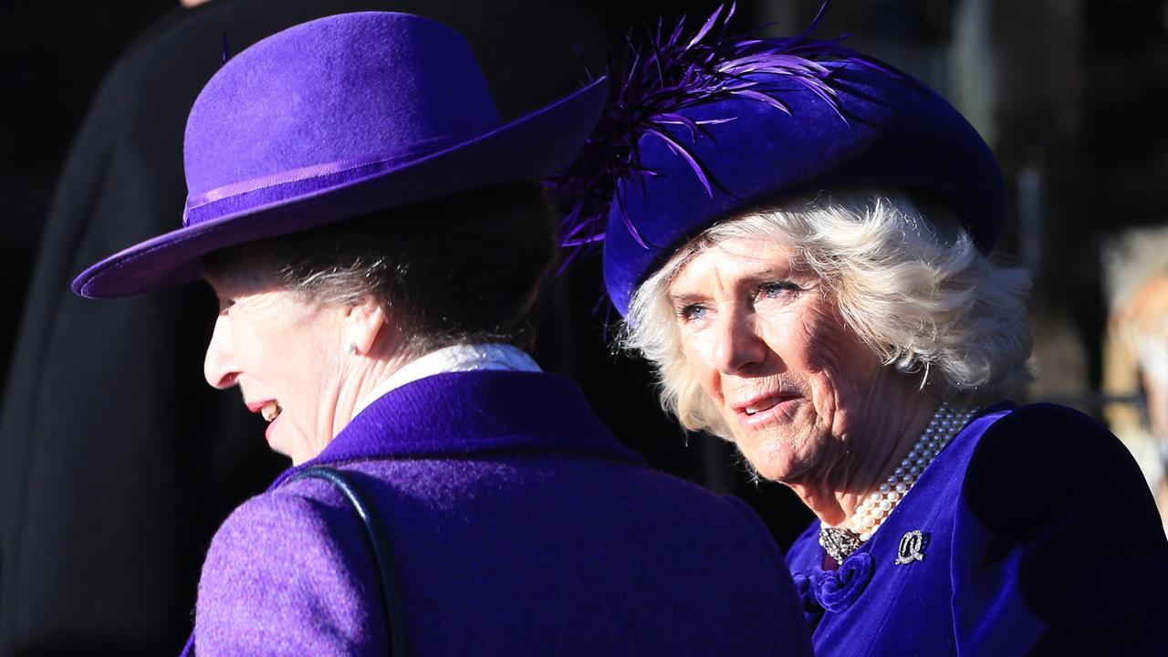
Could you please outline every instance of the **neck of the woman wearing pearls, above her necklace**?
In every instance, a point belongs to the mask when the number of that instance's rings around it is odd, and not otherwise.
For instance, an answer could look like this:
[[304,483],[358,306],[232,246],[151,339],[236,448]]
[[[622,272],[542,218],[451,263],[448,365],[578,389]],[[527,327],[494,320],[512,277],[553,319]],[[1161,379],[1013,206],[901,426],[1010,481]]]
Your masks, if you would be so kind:
[[938,402],[915,386],[903,393],[896,395],[896,400],[870,400],[864,407],[868,413],[849,419],[849,426],[856,428],[836,436],[834,443],[841,447],[827,468],[804,479],[785,482],[823,525],[846,525],[864,498],[878,490],[896,470],[929,426]]

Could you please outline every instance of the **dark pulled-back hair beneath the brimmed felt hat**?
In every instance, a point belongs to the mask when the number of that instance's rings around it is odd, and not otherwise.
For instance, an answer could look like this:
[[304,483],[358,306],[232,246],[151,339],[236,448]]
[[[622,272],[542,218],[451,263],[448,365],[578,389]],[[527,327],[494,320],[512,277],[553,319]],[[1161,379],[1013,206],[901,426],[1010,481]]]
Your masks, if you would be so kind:
[[556,256],[557,226],[535,182],[501,185],[250,242],[203,258],[248,264],[321,304],[374,298],[424,353],[530,339],[531,310]]

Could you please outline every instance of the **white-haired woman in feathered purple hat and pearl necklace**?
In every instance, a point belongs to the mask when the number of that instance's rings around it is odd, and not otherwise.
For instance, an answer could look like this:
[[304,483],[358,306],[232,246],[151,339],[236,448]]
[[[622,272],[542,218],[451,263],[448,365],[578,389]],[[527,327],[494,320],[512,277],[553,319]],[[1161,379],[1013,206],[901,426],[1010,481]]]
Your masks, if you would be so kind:
[[663,406],[818,516],[821,656],[1166,655],[1168,542],[1090,417],[1029,379],[988,147],[943,98],[717,14],[645,48],[557,178]]

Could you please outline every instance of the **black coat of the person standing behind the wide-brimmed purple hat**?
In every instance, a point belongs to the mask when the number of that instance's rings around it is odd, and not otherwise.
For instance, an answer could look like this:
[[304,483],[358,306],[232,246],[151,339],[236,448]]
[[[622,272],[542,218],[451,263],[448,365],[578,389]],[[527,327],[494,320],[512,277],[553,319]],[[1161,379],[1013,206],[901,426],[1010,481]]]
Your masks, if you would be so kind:
[[178,653],[215,527],[286,464],[239,397],[203,381],[209,291],[69,291],[91,263],[180,226],[182,131],[222,34],[238,51],[333,13],[427,15],[467,36],[508,118],[578,83],[571,46],[597,32],[579,11],[521,5],[215,0],[168,14],[117,62],[57,186],[0,416],[0,657]]

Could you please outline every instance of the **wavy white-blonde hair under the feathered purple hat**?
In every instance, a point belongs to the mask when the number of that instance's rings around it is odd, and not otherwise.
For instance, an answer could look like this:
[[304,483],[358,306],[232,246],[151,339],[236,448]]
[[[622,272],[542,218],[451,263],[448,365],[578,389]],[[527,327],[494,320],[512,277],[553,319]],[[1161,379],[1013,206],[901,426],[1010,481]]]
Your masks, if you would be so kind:
[[815,274],[843,321],[888,367],[940,401],[982,406],[1031,375],[1030,277],[987,258],[952,212],[889,191],[842,191],[717,223],[638,288],[620,346],[656,368],[661,402],[690,430],[730,437],[689,372],[668,288],[697,254],[729,238],[774,243]]

